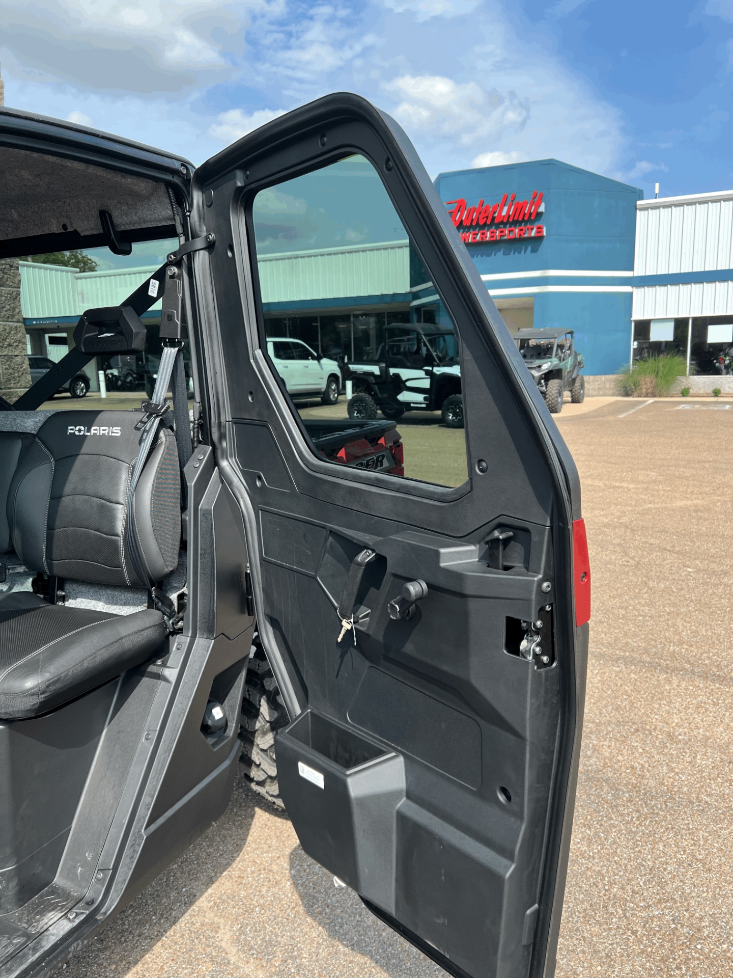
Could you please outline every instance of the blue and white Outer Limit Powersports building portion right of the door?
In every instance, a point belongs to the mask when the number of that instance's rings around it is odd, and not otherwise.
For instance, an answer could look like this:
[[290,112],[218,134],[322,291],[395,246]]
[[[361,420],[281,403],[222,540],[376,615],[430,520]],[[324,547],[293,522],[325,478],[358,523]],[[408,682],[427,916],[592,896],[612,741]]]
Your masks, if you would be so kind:
[[574,330],[590,376],[662,352],[715,374],[733,344],[733,191],[643,200],[556,159],[435,184],[512,332]]

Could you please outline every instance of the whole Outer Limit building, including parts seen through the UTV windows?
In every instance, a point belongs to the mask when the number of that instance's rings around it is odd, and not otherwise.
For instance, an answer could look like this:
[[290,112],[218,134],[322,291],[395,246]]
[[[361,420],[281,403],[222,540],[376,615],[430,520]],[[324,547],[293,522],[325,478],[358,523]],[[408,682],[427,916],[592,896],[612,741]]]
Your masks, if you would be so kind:
[[[574,330],[591,392],[661,352],[684,357],[693,386],[722,379],[713,356],[733,345],[733,191],[643,200],[556,159],[441,173],[435,186],[509,330]],[[22,262],[28,353],[60,359],[85,308],[121,301],[151,271]],[[377,356],[389,323],[446,316],[399,237],[263,255],[260,283],[270,335],[349,361]],[[154,327],[159,305],[149,317]]]

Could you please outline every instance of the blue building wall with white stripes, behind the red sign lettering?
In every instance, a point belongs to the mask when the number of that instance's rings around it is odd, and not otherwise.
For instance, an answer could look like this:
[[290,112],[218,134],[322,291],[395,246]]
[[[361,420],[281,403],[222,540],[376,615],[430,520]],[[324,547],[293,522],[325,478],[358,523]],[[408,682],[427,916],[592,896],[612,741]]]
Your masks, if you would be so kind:
[[[464,199],[469,206],[512,193],[516,200],[530,200],[533,191],[541,192],[543,212],[515,224],[541,224],[545,236],[467,244],[476,267],[491,277],[486,285],[499,304],[505,298],[534,299],[535,327],[575,330],[587,374],[614,374],[628,363],[636,201],[642,191],[557,159],[441,173],[435,185],[442,200]],[[564,274],[547,274],[558,271]],[[588,274],[593,271],[605,274]]]

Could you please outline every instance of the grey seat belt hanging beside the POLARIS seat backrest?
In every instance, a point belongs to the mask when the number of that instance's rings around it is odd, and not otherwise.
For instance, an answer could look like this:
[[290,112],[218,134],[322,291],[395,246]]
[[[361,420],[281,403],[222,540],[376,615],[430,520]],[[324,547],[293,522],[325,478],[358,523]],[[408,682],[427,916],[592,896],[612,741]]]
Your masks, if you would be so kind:
[[[154,585],[151,585],[150,573],[146,566],[145,557],[143,556],[137,533],[135,532],[134,507],[135,490],[138,487],[140,476],[143,474],[143,469],[148,461],[148,456],[150,455],[151,446],[155,440],[157,429],[163,416],[168,411],[169,406],[165,400],[165,395],[168,393],[168,387],[170,385],[171,375],[173,373],[176,361],[183,361],[182,347],[182,340],[169,340],[167,345],[163,347],[163,353],[160,358],[160,365],[157,371],[157,378],[155,380],[155,389],[152,392],[151,400],[143,403],[143,417],[135,425],[135,430],[142,431],[143,435],[140,439],[138,458],[135,462],[135,467],[132,470],[132,477],[130,478],[130,487],[127,493],[127,515],[125,518],[125,543],[127,544],[127,552],[130,556],[133,568],[138,579],[143,582],[145,587],[149,588],[153,603],[158,610],[162,611],[169,628],[171,627],[173,618],[175,617],[176,607],[173,604],[173,601],[170,600],[170,598],[164,592]],[[181,370],[183,370],[183,363],[181,364]],[[176,443],[180,441],[185,445],[188,442],[190,446],[191,436],[189,435],[188,401],[184,401],[184,408],[186,410],[186,422],[185,426],[183,426],[183,430],[176,432]],[[189,458],[190,457],[191,449],[189,448]],[[181,452],[179,450],[179,461],[180,460]]]

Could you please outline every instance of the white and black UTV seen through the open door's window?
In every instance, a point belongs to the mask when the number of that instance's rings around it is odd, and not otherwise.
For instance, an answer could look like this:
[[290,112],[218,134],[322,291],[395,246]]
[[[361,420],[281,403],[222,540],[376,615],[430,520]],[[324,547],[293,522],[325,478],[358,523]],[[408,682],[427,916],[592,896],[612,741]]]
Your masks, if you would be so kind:
[[373,360],[348,364],[353,383],[349,418],[402,418],[406,411],[440,411],[448,427],[463,427],[458,342],[450,327],[390,323]]

